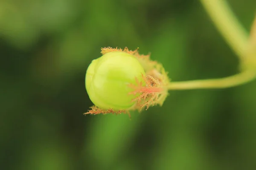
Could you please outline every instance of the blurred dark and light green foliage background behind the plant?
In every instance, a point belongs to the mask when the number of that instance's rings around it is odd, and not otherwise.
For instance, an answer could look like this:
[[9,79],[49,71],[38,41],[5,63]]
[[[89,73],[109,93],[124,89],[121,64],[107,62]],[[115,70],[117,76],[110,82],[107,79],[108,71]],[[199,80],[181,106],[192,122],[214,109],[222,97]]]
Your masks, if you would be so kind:
[[[228,2],[249,31],[256,1]],[[256,81],[84,116],[106,46],[150,52],[173,81],[238,72],[198,0],[0,0],[1,170],[256,169]]]

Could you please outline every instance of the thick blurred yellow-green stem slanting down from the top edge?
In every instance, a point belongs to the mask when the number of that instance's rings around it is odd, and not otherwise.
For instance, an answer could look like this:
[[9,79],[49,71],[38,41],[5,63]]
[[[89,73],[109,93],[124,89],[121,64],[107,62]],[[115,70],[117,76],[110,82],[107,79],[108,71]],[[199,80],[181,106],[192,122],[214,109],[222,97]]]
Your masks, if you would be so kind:
[[247,45],[247,32],[241,26],[226,0],[201,0],[219,32],[242,59]]

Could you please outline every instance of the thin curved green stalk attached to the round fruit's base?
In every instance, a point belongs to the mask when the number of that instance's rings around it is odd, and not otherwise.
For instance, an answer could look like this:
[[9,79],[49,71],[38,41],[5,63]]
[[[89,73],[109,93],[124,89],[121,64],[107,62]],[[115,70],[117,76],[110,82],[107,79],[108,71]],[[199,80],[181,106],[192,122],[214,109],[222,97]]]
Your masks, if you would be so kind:
[[169,90],[190,90],[209,88],[230,88],[250,82],[256,77],[255,71],[244,71],[230,77],[219,79],[190,80],[183,82],[170,82]]

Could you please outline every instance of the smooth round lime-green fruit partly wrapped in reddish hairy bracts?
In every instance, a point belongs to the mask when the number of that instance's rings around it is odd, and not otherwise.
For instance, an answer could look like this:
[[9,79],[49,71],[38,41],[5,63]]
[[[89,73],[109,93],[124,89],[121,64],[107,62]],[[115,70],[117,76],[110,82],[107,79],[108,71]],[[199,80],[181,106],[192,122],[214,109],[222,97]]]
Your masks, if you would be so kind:
[[97,107],[127,110],[135,104],[131,101],[137,97],[129,94],[133,89],[128,85],[136,84],[136,78],[142,82],[142,75],[145,71],[134,56],[112,51],[91,62],[85,76],[85,88]]

